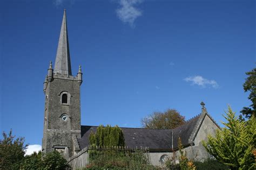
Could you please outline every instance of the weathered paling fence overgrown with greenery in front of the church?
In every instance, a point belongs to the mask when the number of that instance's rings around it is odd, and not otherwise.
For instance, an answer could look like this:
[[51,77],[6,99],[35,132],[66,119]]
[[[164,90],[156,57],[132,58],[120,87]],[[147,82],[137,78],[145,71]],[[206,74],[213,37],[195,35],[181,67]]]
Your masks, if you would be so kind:
[[151,159],[147,147],[85,147],[73,155],[68,164],[72,169],[81,169],[90,165],[139,168],[138,166],[151,164]]

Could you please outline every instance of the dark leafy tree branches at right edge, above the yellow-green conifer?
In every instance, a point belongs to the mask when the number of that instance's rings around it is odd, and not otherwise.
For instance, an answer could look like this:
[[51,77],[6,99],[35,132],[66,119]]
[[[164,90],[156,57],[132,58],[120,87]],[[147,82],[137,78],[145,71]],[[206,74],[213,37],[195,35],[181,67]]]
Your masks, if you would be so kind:
[[[256,116],[256,68],[252,69],[250,72],[247,72],[248,77],[243,84],[245,92],[250,91],[248,99],[252,101],[250,107],[244,107],[240,112],[246,118],[251,118]],[[239,116],[239,119],[242,119],[242,116]]]

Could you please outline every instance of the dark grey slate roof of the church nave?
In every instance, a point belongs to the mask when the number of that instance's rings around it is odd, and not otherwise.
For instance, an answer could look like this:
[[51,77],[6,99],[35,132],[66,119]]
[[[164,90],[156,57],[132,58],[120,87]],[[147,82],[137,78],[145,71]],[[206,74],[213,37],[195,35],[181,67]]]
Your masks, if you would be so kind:
[[[200,115],[190,119],[184,125],[175,129],[142,129],[142,128],[121,128],[124,133],[125,145],[130,148],[149,147],[150,150],[166,151],[178,147],[178,138],[181,138],[183,146],[193,145],[194,137],[200,128],[201,122],[206,115]],[[81,126],[82,138],[78,138],[80,149],[89,146],[89,136],[95,132],[98,126]]]

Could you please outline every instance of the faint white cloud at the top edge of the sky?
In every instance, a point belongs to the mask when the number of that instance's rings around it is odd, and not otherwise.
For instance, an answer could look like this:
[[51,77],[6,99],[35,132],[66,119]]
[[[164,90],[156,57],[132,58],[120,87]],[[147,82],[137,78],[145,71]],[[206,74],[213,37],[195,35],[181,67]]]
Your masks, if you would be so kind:
[[142,10],[135,8],[134,5],[142,3],[143,0],[118,0],[120,8],[116,10],[117,16],[123,23],[129,23],[134,27],[134,21],[142,16]]

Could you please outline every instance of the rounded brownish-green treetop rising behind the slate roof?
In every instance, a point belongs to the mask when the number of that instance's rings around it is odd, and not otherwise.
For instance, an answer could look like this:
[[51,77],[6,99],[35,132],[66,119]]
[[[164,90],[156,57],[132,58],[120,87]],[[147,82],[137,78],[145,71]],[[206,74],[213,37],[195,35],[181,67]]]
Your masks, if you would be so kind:
[[153,112],[142,119],[142,126],[146,129],[174,129],[184,123],[185,117],[174,109],[167,109],[165,112]]

